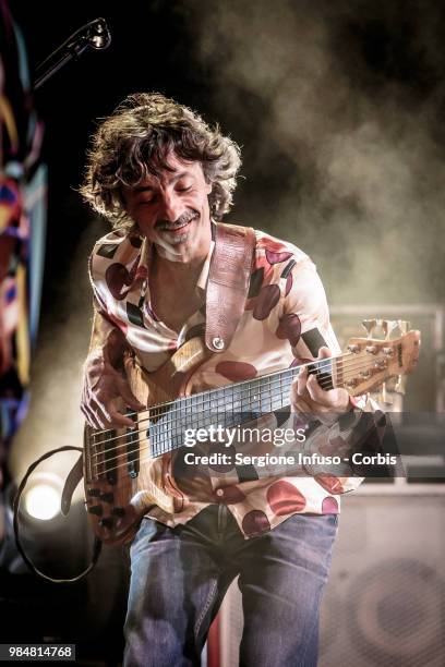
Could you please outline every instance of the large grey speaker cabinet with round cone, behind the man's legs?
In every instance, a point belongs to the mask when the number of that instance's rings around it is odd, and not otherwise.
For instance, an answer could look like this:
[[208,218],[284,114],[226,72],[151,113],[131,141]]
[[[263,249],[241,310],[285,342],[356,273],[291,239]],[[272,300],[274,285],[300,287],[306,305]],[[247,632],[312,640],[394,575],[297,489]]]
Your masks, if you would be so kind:
[[[445,496],[345,498],[322,603],[318,667],[443,667]],[[219,615],[219,667],[237,667],[233,582]],[[291,632],[282,628],[282,632]]]

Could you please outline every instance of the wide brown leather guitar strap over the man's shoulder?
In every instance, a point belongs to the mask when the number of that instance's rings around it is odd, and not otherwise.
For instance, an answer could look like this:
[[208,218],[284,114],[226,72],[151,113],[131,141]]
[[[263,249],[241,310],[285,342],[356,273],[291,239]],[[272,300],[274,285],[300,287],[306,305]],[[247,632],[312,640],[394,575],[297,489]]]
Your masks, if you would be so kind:
[[214,226],[215,247],[208,271],[205,344],[212,352],[230,345],[248,298],[255,232],[251,227]]

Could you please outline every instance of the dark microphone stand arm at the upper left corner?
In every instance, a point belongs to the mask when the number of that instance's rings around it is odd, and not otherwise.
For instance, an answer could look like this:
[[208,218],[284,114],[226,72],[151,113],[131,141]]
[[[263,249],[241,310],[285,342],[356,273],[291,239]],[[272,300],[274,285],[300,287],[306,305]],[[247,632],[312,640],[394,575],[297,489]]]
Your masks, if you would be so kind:
[[111,34],[105,19],[95,19],[83,25],[37,65],[34,90],[38,90],[67,62],[77,60],[86,49],[99,51],[107,49],[110,44]]

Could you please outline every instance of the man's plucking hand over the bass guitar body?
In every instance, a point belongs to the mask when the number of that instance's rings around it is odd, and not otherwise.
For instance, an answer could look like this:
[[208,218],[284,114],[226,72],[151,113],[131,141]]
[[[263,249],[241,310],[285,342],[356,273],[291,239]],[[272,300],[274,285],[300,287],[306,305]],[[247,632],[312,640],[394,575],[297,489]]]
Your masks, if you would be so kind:
[[84,366],[81,410],[93,428],[134,427],[134,422],[116,407],[117,399],[132,410],[144,410],[130,389],[127,378],[117,371],[100,350],[92,352]]

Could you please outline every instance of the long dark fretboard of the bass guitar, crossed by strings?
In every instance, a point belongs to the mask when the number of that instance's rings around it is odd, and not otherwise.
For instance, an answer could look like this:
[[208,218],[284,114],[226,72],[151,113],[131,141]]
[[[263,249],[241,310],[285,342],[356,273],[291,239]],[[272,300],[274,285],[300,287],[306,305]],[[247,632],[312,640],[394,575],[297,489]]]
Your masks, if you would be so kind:
[[[332,389],[333,363],[321,360],[309,366],[325,389]],[[211,427],[233,428],[261,415],[285,411],[290,405],[290,389],[301,366],[270,375],[226,385],[193,396],[177,399],[168,407],[151,409],[149,440],[152,456],[182,447],[188,429]]]

